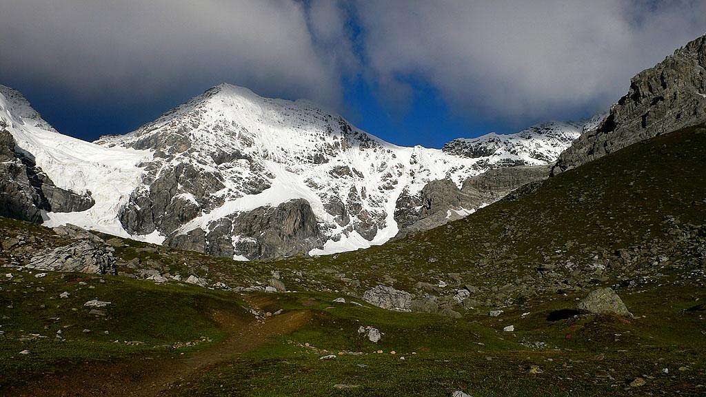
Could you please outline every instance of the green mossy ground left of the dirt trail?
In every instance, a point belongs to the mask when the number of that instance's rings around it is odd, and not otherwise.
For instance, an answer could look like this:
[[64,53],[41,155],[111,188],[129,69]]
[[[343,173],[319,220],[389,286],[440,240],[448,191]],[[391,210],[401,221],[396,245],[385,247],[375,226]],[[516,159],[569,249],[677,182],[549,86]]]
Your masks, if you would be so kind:
[[[248,316],[241,297],[124,277],[14,271],[0,275],[0,388],[37,374],[141,355],[174,355],[226,334],[216,312]],[[60,295],[68,292],[68,297]],[[90,314],[85,302],[110,302]],[[20,354],[28,350],[29,354]]]

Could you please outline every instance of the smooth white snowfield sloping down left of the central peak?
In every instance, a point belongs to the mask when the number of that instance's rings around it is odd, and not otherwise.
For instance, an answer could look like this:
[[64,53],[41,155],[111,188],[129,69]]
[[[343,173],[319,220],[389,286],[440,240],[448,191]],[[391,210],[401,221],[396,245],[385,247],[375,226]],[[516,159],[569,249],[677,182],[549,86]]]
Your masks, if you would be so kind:
[[56,186],[76,193],[91,192],[95,206],[76,213],[47,213],[47,226],[73,223],[112,235],[129,237],[116,215],[142,170],[136,164],[152,157],[145,150],[104,148],[56,132],[16,90],[0,85],[0,119],[17,146],[31,153]]

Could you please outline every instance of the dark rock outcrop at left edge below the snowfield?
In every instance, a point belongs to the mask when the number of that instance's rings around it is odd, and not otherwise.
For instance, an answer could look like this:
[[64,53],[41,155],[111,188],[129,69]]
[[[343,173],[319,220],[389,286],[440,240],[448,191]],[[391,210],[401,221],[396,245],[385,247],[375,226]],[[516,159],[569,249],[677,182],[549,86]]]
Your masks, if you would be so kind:
[[28,155],[16,148],[13,136],[0,119],[0,216],[42,223],[42,210],[85,211],[94,201],[54,186]]

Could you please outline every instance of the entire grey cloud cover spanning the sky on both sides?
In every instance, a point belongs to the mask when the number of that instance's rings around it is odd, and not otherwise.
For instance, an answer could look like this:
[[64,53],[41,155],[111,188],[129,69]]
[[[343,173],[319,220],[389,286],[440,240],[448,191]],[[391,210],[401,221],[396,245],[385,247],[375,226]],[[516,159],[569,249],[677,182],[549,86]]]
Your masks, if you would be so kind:
[[345,109],[359,76],[394,107],[421,78],[507,120],[607,106],[706,32],[706,0],[0,0],[0,22],[0,76],[88,99],[227,81]]

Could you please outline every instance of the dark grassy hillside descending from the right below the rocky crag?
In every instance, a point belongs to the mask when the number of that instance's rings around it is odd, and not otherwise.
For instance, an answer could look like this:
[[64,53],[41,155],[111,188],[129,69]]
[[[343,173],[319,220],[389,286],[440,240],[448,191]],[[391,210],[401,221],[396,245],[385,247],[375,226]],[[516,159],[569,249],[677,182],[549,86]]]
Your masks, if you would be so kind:
[[[705,167],[706,129],[685,129],[526,186],[524,194],[443,227],[277,266],[333,268],[364,285],[405,290],[418,281],[470,283],[492,295],[489,304],[546,290],[639,282],[703,263],[703,250],[689,250],[706,234]],[[506,297],[493,291],[508,284],[513,288]]]

